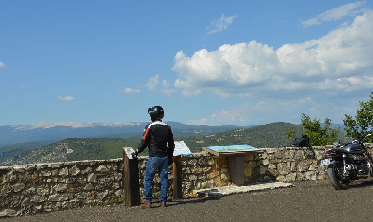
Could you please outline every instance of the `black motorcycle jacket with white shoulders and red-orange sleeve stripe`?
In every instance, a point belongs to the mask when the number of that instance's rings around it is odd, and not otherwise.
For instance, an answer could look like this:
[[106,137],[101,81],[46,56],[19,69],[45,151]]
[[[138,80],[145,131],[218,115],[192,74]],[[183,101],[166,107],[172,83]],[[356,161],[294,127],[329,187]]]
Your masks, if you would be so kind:
[[137,147],[136,152],[141,153],[147,146],[149,156],[172,157],[175,144],[171,127],[160,119],[146,125],[141,143]]

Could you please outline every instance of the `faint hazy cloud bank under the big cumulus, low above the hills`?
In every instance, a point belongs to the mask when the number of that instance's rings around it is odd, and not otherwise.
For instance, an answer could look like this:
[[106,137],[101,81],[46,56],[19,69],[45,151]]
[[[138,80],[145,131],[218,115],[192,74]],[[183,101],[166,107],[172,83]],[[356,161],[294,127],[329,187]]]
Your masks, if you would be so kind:
[[[300,102],[301,101],[301,102]],[[300,124],[301,114],[312,114],[312,118],[320,118],[324,120],[326,117],[332,119],[333,122],[340,121],[344,118],[345,113],[350,113],[348,107],[333,110],[336,114],[330,117],[330,109],[338,104],[333,104],[331,101],[314,102],[310,98],[300,99],[266,99],[256,103],[243,103],[229,107],[225,110],[214,111],[206,123],[214,126],[233,124],[237,126],[251,126],[258,123],[275,123],[287,122]],[[286,115],[284,115],[286,114]],[[196,123],[191,122],[189,123]]]

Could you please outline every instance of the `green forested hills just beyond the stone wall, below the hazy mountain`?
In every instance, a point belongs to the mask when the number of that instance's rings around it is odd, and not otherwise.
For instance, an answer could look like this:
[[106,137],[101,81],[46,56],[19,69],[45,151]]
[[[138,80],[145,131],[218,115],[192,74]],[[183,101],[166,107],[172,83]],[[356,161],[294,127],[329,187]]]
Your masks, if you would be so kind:
[[[237,127],[237,126],[188,126],[181,123],[169,122],[174,126],[177,132],[186,132],[184,136],[174,136],[175,140],[184,140],[191,152],[200,152],[204,146],[223,146],[223,145],[239,145],[248,144],[256,148],[276,148],[285,146],[286,142],[291,141],[291,138],[286,137],[286,133],[290,127],[295,129],[295,137],[301,136],[303,130],[300,125],[291,123],[270,123],[254,127]],[[214,131],[228,127],[231,129],[224,131]],[[232,129],[235,127],[235,129]],[[343,125],[333,124],[332,128],[341,127],[341,135],[343,134]],[[209,131],[214,131],[210,134],[204,134]],[[187,136],[188,133],[193,133],[194,136]],[[132,134],[132,133],[129,133]],[[22,143],[22,145],[12,145],[8,150],[4,150],[4,155],[1,155],[0,147],[0,165],[17,165],[31,164],[43,162],[60,162],[60,161],[75,161],[75,160],[93,160],[93,159],[109,159],[121,158],[123,146],[137,147],[140,143],[139,133],[137,137],[126,137],[126,134],[117,134],[112,138],[69,138],[59,142],[54,142],[49,145],[39,146],[38,149],[31,149],[32,143]],[[178,134],[178,133],[176,133]],[[142,131],[140,133],[142,135]],[[342,140],[348,141],[341,136]],[[38,143],[41,145],[41,143]],[[22,148],[27,148],[23,150]],[[9,149],[15,149],[17,152],[11,152]],[[141,153],[147,155],[147,149]]]

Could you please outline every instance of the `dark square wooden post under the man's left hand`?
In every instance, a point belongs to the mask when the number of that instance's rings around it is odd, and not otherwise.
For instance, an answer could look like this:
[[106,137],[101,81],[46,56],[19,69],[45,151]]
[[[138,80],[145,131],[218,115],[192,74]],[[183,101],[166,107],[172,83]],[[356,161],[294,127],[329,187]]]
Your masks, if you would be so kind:
[[140,204],[139,166],[138,159],[129,159],[123,148],[123,191],[125,206]]

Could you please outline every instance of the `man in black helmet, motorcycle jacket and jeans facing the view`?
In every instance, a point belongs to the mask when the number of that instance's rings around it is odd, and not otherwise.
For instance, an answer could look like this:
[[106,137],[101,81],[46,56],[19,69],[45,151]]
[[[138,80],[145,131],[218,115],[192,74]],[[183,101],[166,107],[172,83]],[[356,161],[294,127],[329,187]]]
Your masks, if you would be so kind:
[[[168,166],[172,164],[173,150],[175,144],[173,141],[172,131],[169,125],[162,122],[164,117],[164,110],[160,106],[155,106],[148,109],[151,122],[145,126],[144,134],[138,148],[132,153],[137,156],[147,146],[149,149],[149,159],[145,168],[144,189],[145,189],[145,203],[140,204],[141,208],[151,208],[151,185],[156,171],[159,170],[161,180],[161,195],[160,207],[166,207],[168,179]],[[167,148],[168,145],[168,148]]]

